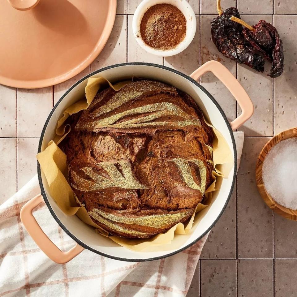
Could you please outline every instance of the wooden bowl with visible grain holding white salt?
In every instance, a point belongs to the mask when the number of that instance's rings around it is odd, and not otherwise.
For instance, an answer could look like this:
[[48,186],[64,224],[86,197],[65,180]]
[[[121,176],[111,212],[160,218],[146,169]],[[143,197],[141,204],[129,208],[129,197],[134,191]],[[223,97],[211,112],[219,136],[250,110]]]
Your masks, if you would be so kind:
[[278,135],[274,136],[271,140],[269,140],[264,148],[261,150],[261,153],[259,154],[257,164],[256,164],[256,184],[258,187],[258,190],[260,192],[260,195],[262,196],[265,203],[276,213],[281,215],[282,217],[285,217],[290,220],[297,221],[297,210],[292,210],[289,208],[286,208],[277,202],[275,202],[272,197],[268,194],[264,187],[263,179],[262,179],[262,166],[264,159],[266,155],[268,154],[269,150],[277,143],[281,142],[282,140],[285,140],[287,138],[291,137],[297,137],[297,128],[291,128],[288,130],[285,130]]

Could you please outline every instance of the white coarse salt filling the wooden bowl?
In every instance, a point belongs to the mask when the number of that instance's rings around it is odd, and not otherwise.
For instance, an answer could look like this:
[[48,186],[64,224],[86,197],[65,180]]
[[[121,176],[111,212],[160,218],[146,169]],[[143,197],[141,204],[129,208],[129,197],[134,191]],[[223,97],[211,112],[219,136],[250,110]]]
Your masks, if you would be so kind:
[[273,200],[297,209],[297,137],[282,140],[269,150],[262,166],[262,179]]

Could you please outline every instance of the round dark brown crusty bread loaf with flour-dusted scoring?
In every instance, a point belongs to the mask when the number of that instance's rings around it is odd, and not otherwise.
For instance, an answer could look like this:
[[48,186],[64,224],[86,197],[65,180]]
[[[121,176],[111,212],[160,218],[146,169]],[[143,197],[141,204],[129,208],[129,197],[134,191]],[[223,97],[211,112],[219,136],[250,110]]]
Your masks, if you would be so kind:
[[77,200],[111,235],[185,222],[211,183],[213,132],[194,100],[156,81],[97,93],[60,144]]

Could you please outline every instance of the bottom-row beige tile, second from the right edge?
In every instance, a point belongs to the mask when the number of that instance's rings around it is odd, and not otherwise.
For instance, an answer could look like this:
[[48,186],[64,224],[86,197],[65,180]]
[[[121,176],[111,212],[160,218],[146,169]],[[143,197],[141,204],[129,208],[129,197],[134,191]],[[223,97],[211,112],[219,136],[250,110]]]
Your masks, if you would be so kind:
[[273,297],[273,259],[238,260],[238,296]]

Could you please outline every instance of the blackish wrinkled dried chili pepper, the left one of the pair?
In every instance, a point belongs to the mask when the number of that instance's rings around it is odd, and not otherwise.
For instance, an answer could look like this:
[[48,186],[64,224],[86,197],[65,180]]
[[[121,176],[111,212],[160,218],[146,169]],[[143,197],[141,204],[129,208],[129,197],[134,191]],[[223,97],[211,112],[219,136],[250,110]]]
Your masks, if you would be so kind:
[[264,58],[256,54],[256,49],[244,38],[242,25],[231,20],[232,16],[240,19],[238,10],[230,7],[220,13],[210,23],[211,35],[217,49],[225,57],[263,72]]

